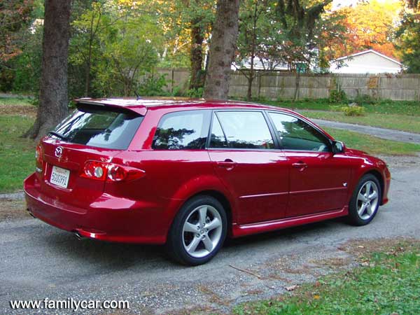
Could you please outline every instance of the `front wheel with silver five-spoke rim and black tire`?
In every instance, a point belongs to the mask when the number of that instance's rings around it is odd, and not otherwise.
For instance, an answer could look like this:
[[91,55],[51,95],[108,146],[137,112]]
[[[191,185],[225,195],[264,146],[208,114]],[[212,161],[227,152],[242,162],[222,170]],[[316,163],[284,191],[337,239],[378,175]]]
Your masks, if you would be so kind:
[[381,185],[375,176],[366,174],[354,189],[349,204],[348,221],[352,225],[367,225],[376,216],[381,203]]

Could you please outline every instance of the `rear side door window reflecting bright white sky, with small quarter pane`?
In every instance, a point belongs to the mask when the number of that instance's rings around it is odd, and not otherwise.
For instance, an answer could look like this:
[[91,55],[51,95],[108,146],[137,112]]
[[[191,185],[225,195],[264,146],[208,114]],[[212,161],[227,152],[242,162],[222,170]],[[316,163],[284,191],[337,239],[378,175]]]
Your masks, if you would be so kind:
[[[272,135],[260,111],[219,111],[217,117],[230,148],[274,148]],[[223,148],[223,133],[217,128],[218,125],[214,125],[211,134],[212,137],[215,134],[218,141],[212,141],[211,147]]]

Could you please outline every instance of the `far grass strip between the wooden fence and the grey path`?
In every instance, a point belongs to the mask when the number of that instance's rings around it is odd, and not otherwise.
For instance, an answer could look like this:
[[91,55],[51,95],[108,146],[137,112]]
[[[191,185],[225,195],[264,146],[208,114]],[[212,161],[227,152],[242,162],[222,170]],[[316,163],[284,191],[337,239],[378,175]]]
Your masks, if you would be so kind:
[[[381,101],[376,104],[363,104],[365,116],[349,117],[339,109],[345,104],[331,104],[328,99],[299,102],[264,102],[265,104],[296,109],[304,116],[342,123],[356,123],[420,134],[420,102]],[[304,111],[318,110],[323,112]]]

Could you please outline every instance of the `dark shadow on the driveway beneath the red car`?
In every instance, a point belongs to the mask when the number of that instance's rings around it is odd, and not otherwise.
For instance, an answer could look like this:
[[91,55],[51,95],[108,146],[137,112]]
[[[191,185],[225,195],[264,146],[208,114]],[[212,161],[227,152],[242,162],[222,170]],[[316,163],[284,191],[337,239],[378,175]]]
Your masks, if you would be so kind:
[[[241,256],[246,259],[250,248],[258,249],[259,246],[272,243],[281,244],[296,239],[299,241],[300,238],[310,238],[320,233],[325,235],[325,233],[339,228],[339,225],[344,225],[341,218],[238,239],[228,238],[219,254],[221,258],[217,259],[217,264],[230,263],[232,255],[235,255],[235,260]],[[165,253],[165,246],[110,243],[93,239],[78,241],[71,233],[56,229],[50,231],[49,234],[48,237],[43,239],[45,246],[50,248],[49,251],[52,251],[55,255],[62,255],[67,265],[85,268],[90,273],[92,267],[97,274],[110,270],[118,272],[130,268],[147,269],[149,272],[153,269],[186,268],[169,259]],[[243,255],[241,255],[242,253]]]

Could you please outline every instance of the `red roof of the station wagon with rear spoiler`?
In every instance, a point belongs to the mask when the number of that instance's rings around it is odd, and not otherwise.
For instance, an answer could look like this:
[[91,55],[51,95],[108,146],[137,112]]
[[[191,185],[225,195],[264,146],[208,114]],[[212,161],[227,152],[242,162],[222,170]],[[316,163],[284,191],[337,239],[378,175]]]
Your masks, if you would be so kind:
[[[123,107],[146,115],[148,110],[155,109],[281,109],[280,107],[267,106],[262,104],[255,104],[234,100],[220,100],[220,99],[190,99],[185,97],[122,97],[122,98],[103,98],[92,99],[82,98],[75,99],[78,104],[92,104],[97,106],[113,106]],[[281,109],[289,111],[288,109]]]

